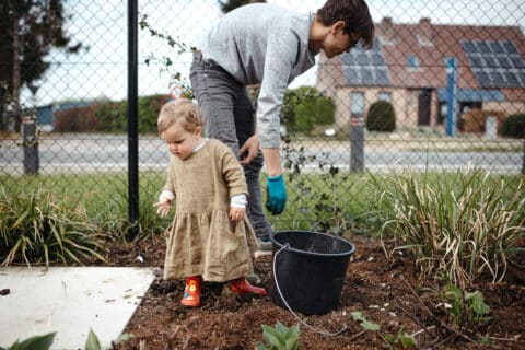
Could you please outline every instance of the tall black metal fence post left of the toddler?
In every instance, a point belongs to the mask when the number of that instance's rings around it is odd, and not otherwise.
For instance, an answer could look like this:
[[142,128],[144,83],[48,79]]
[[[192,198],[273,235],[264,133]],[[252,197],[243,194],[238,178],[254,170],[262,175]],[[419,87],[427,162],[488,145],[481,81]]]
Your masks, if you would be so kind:
[[139,234],[138,0],[128,0],[128,238]]

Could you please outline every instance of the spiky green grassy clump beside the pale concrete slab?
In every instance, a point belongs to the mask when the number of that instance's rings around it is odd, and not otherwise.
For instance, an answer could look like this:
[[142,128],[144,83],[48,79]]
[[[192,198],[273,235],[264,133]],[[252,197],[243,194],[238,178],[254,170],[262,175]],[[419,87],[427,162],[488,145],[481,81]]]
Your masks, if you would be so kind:
[[50,191],[0,191],[0,261],[43,264],[104,260],[103,237],[78,199]]

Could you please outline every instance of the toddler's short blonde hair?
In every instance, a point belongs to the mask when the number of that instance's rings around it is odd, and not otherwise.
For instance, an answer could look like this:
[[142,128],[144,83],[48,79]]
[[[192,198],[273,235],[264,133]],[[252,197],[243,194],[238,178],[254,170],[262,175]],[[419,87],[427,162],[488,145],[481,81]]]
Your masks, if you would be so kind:
[[191,100],[177,98],[162,106],[156,120],[159,133],[166,131],[178,120],[183,121],[183,128],[189,132],[205,125],[199,107]]

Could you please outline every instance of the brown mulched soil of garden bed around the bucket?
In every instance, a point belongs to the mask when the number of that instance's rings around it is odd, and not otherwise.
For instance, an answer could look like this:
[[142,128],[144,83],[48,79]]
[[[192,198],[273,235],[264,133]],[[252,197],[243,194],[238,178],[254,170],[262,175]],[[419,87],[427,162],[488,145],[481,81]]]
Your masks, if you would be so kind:
[[[298,323],[288,310],[271,300],[271,256],[255,260],[260,285],[268,291],[266,296],[241,299],[220,284],[206,283],[202,306],[182,307],[182,282],[162,280],[165,248],[162,241],[116,245],[108,254],[109,266],[159,268],[156,279],[125,330],[133,338],[116,345],[115,349],[255,349],[264,340],[261,325],[275,326],[278,320],[287,326]],[[483,282],[470,289],[482,292],[490,306],[490,322],[475,331],[458,330],[447,322],[439,306],[440,299],[432,292],[442,285],[419,278],[409,257],[398,255],[395,261],[388,261],[377,240],[354,236],[351,241],[357,250],[338,307],[320,316],[299,314],[317,330],[337,332],[345,325],[347,330],[325,336],[301,325],[301,349],[383,349],[386,342],[382,336],[396,335],[401,327],[408,334],[417,334],[421,349],[525,349],[525,273],[517,267],[510,269],[502,283]],[[518,258],[525,264],[525,256]],[[353,320],[352,312],[361,312],[366,319],[378,324],[381,330],[363,331]],[[490,346],[469,340],[481,337]]]

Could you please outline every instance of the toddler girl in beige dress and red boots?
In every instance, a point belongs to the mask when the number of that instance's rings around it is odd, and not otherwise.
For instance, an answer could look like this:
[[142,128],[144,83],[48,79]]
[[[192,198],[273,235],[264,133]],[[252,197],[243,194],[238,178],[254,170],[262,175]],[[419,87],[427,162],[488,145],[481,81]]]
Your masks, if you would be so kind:
[[248,237],[255,234],[245,217],[243,168],[228,145],[201,137],[202,125],[199,108],[186,98],[166,103],[158,120],[172,155],[156,212],[166,217],[175,201],[164,279],[184,278],[185,306],[200,306],[202,280],[229,282],[238,294],[266,294],[244,278],[253,272]]

